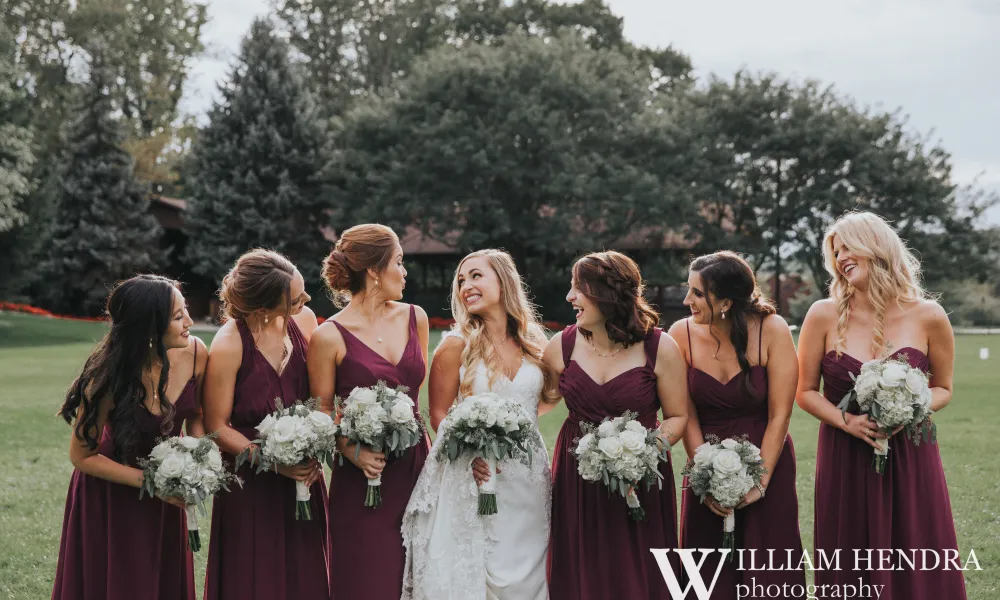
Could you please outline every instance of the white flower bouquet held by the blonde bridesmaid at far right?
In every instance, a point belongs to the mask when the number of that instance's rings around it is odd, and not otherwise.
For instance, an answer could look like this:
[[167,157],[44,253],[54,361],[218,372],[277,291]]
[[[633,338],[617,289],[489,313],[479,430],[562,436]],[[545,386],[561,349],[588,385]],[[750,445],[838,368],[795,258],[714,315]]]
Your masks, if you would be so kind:
[[[861,372],[854,379],[854,388],[844,396],[838,408],[844,413],[857,404],[861,414],[867,414],[879,431],[891,434],[903,426],[906,436],[915,445],[921,438],[937,441],[937,427],[931,421],[930,377],[922,370],[898,358],[874,359],[861,365]],[[873,464],[879,475],[885,473],[889,458],[888,438],[876,438]]]

